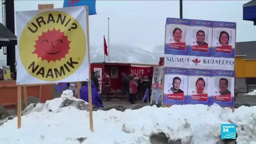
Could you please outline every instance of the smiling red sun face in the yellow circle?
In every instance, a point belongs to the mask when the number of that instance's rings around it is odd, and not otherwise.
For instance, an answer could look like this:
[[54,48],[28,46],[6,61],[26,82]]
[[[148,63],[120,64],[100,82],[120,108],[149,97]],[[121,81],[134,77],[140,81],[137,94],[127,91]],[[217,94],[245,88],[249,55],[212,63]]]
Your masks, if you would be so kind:
[[41,36],[38,36],[36,41],[35,51],[33,53],[37,54],[37,57],[43,60],[50,61],[61,60],[65,58],[65,55],[69,53],[70,41],[64,32],[60,30],[53,29],[43,32]]

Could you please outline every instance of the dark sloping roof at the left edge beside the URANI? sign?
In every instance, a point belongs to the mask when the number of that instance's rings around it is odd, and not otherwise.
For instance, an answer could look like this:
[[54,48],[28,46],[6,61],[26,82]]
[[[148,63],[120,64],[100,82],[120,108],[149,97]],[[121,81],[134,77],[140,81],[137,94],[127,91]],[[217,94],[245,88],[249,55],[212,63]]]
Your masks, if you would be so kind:
[[8,45],[17,45],[17,37],[0,23],[0,47]]

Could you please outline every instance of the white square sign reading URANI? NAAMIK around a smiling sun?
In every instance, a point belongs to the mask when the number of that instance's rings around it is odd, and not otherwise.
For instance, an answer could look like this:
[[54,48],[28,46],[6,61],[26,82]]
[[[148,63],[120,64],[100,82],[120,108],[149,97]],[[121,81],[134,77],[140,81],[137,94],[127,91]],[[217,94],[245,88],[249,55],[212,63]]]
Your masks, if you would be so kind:
[[17,84],[89,80],[85,6],[16,12]]

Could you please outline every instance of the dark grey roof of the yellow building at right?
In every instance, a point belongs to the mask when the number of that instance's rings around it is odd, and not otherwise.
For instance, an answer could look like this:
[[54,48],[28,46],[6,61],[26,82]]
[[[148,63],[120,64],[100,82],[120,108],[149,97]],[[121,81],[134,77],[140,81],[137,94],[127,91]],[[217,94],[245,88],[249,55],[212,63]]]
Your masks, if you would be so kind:
[[235,55],[245,56],[244,59],[256,59],[256,41],[237,42]]

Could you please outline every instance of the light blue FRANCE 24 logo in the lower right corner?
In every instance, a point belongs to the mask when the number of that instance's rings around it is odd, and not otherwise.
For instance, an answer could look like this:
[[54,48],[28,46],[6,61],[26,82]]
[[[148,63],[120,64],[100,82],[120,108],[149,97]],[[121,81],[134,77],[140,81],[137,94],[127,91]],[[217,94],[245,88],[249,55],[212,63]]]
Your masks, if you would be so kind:
[[221,124],[221,139],[235,139],[236,125],[235,124]]

